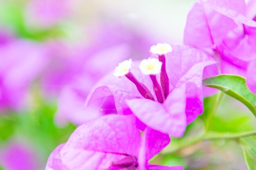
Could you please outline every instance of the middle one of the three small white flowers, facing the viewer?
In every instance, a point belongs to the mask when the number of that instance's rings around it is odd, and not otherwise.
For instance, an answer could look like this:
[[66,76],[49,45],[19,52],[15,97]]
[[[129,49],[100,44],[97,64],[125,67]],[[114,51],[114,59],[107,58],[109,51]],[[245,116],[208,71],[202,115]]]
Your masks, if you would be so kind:
[[162,62],[155,58],[149,58],[148,60],[142,60],[139,64],[139,68],[144,75],[156,75],[160,73]]

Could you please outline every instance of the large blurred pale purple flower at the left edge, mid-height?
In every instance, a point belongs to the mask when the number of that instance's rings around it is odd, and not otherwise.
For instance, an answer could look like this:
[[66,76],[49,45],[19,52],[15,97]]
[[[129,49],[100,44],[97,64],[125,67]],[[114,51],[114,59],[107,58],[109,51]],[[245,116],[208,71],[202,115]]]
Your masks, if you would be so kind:
[[47,61],[43,46],[13,39],[0,44],[0,53],[0,109],[22,108],[29,85]]

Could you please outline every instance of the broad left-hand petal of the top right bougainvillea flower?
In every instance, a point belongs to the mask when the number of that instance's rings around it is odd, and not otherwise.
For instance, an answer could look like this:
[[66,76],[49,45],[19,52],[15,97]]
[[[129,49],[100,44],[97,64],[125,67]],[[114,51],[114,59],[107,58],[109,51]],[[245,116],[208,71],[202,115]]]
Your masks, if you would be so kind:
[[184,44],[200,49],[212,48],[219,44],[236,23],[225,15],[211,9],[211,6],[200,0],[196,2],[186,20]]

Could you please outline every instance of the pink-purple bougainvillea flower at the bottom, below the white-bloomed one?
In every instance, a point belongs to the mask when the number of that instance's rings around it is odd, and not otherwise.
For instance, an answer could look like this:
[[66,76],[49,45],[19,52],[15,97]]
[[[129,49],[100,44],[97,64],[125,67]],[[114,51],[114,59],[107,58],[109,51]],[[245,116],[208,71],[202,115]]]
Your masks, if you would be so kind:
[[107,115],[79,126],[52,152],[46,170],[183,170],[148,163],[169,142],[152,129],[141,139],[132,115]]

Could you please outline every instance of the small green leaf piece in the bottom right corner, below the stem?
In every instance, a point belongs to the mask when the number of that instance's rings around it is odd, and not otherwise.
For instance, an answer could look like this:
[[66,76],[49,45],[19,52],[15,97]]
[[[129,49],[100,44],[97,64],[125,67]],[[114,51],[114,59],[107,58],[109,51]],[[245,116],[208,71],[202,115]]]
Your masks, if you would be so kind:
[[249,167],[249,170],[256,170],[256,152],[255,150],[251,150],[245,146],[242,146],[245,160],[247,163],[247,166]]

